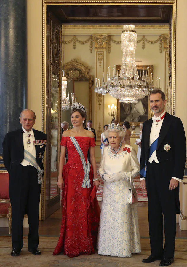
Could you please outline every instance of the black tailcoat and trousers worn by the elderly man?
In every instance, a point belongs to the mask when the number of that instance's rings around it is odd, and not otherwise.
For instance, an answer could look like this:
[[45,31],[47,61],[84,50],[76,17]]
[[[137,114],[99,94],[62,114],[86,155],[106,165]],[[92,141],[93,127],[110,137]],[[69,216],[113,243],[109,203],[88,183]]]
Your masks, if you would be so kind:
[[[33,129],[35,140],[47,140],[47,135]],[[42,158],[46,145],[35,145],[36,161],[44,169]],[[12,205],[12,247],[23,247],[23,217],[28,214],[28,248],[38,247],[38,216],[41,185],[38,184],[37,170],[20,163],[24,158],[22,128],[9,132],[3,141],[3,161],[9,172],[9,196]]]

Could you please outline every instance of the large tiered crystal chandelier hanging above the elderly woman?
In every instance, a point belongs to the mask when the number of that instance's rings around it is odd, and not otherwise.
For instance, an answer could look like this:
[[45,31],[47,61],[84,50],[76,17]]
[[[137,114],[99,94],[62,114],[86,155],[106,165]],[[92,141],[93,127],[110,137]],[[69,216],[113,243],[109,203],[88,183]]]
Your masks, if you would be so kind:
[[[106,82],[103,79],[100,86],[100,80],[95,78],[95,92],[105,95],[109,92],[111,96],[119,99],[119,102],[125,103],[137,103],[138,99],[142,99],[148,95],[149,91],[155,88],[152,85],[152,79],[150,79],[149,68],[146,73],[138,75],[136,61],[135,61],[135,49],[137,44],[137,34],[134,25],[124,25],[122,31],[122,65],[120,74],[115,72],[115,65],[113,68],[113,76],[110,75],[110,67],[106,75]],[[143,74],[143,75],[142,75]],[[152,76],[152,74],[151,74]],[[158,82],[157,82],[158,83]],[[158,85],[156,87],[158,88]]]

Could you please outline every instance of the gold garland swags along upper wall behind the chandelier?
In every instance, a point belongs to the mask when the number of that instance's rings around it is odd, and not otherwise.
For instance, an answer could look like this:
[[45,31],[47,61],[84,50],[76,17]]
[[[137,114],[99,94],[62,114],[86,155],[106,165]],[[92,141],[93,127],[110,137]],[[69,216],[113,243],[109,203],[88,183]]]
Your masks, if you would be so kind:
[[[111,35],[97,35],[97,36],[96,35],[90,35],[89,38],[86,39],[85,41],[81,41],[76,37],[76,35],[73,35],[73,37],[70,40],[64,41],[64,44],[67,45],[67,44],[71,44],[72,42],[73,42],[73,49],[76,49],[76,42],[78,42],[81,45],[85,45],[88,42],[90,42],[90,45],[89,45],[90,53],[92,53],[92,50],[93,50],[93,42],[97,43],[98,47],[102,47],[103,43],[108,43],[108,53],[109,54],[111,52],[111,42],[116,44],[116,45],[121,44],[121,41],[114,40],[111,37]],[[163,51],[163,43],[166,43],[167,48],[168,48],[168,37],[166,37],[163,34],[161,34],[156,40],[152,40],[152,41],[148,40],[146,38],[146,36],[143,35],[143,37],[141,39],[137,40],[137,44],[140,42],[142,42],[142,49],[145,49],[146,43],[154,45],[154,44],[159,42],[160,53],[162,53],[162,51]]]

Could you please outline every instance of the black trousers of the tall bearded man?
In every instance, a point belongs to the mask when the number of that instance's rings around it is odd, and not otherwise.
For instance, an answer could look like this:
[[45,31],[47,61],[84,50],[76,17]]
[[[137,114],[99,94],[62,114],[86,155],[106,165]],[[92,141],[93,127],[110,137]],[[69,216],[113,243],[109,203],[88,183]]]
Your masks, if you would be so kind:
[[[151,256],[174,257],[176,235],[175,190],[169,190],[171,179],[167,163],[148,163],[146,187],[148,195]],[[164,218],[163,218],[164,217]],[[163,220],[165,244],[163,249]]]

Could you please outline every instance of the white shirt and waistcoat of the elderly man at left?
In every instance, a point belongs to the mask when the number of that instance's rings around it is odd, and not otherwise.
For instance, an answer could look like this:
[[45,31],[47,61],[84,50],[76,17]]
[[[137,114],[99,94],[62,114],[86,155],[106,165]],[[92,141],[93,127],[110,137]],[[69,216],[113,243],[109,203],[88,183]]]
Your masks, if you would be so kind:
[[[23,130],[23,148],[25,150],[27,150],[29,153],[31,153],[33,155],[33,157],[36,158],[36,149],[35,149],[35,146],[33,144],[33,141],[35,141],[33,128],[29,132],[27,132],[23,127],[22,127],[22,130]],[[29,134],[30,134],[30,136],[29,136]],[[31,144],[28,144],[28,140],[30,140]],[[28,166],[28,165],[33,166],[33,164],[31,164],[30,162],[28,162],[25,159],[23,159],[20,164],[23,166]],[[41,168],[39,166],[37,168],[41,170]]]

